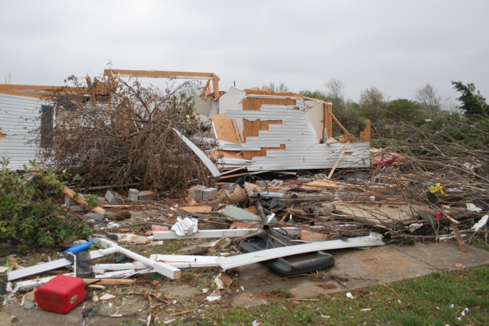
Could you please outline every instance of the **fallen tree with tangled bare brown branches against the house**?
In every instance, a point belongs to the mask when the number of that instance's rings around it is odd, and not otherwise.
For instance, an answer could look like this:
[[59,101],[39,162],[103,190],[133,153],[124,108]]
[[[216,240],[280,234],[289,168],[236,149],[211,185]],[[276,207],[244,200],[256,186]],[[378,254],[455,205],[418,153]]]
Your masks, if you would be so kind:
[[[89,89],[73,76],[68,80]],[[41,160],[82,175],[86,187],[139,182],[155,191],[178,191],[186,189],[189,180],[207,184],[209,171],[174,131],[192,137],[206,130],[187,95],[193,84],[170,83],[158,93],[137,80],[114,76],[111,83],[98,85],[111,94],[106,103],[93,103],[94,96],[87,102],[68,101],[60,89],[51,98],[56,124],[49,132],[37,130],[44,137],[38,141],[48,143]]]

